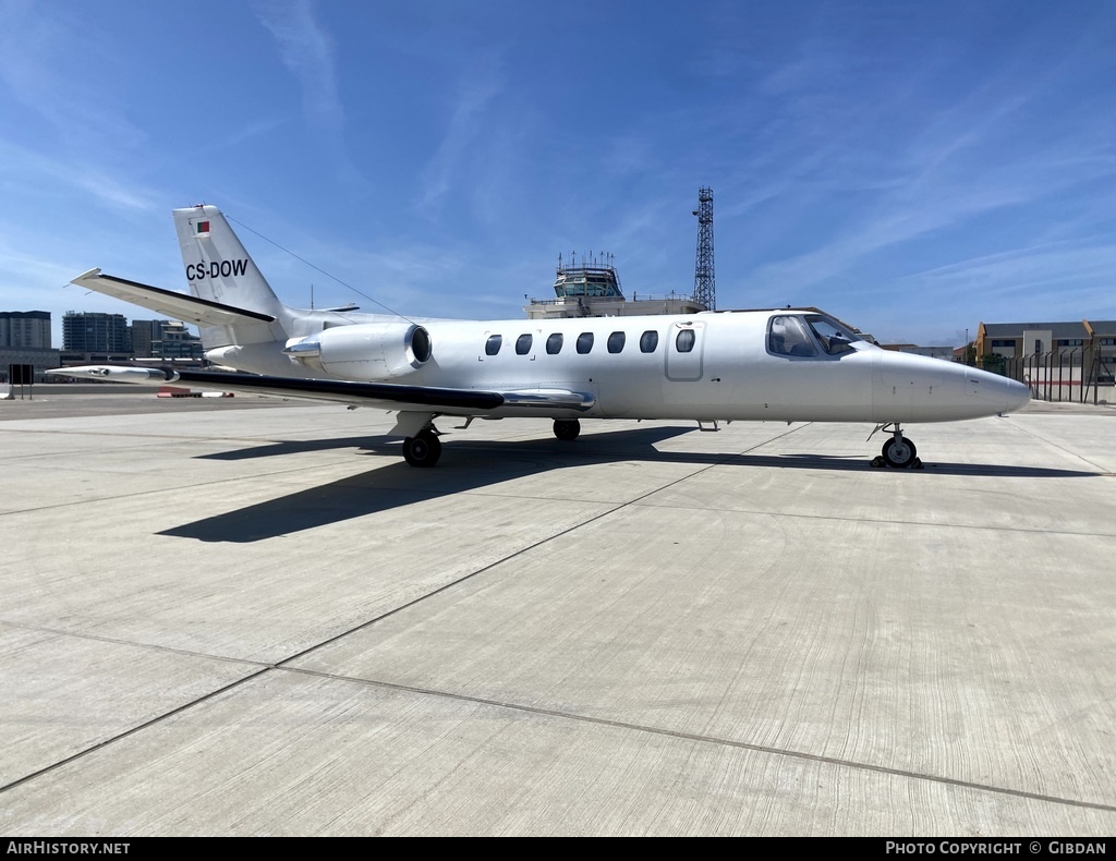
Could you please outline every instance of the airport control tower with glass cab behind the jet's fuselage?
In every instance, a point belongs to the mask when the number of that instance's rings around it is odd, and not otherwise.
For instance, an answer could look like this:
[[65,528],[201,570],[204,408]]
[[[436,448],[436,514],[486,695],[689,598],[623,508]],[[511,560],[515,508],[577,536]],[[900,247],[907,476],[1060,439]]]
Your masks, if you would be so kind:
[[696,314],[705,306],[690,296],[624,296],[616,274],[613,255],[594,257],[590,252],[580,262],[577,255],[569,262],[558,255],[555,272],[555,298],[531,299],[523,306],[528,319],[556,319],[560,317],[632,317],[643,314]]

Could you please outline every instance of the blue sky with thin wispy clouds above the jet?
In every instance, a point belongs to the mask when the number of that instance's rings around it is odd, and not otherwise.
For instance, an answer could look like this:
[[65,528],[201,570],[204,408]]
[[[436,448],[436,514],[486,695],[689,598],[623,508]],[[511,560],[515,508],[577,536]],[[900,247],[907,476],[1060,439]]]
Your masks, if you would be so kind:
[[147,312],[206,202],[288,304],[523,316],[559,252],[631,294],[884,341],[1116,318],[1116,3],[0,0],[0,310]]

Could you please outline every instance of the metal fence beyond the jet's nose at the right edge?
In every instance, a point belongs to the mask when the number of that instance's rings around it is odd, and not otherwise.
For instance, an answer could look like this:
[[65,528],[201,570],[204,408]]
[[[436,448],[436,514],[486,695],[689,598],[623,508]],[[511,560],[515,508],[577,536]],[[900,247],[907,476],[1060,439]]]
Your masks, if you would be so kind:
[[1096,404],[1116,399],[1116,356],[1101,355],[1096,348],[1051,351],[1013,358],[990,355],[978,365],[1026,383],[1037,401]]

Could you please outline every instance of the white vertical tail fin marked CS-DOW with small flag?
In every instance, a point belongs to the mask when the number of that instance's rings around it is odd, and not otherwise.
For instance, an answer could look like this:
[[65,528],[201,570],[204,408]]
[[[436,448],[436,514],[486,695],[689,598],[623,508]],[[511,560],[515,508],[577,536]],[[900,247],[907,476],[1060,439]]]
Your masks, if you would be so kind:
[[190,291],[200,299],[269,314],[278,322],[202,327],[206,350],[230,344],[286,341],[287,309],[217,207],[174,210]]

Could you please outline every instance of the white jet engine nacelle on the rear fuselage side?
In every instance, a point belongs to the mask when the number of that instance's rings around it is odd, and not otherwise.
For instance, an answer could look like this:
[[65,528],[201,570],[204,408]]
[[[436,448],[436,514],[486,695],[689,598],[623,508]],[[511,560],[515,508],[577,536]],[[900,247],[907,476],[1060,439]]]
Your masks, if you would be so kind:
[[386,380],[426,364],[431,339],[415,323],[357,323],[288,342],[283,352],[334,376]]

